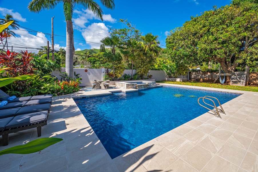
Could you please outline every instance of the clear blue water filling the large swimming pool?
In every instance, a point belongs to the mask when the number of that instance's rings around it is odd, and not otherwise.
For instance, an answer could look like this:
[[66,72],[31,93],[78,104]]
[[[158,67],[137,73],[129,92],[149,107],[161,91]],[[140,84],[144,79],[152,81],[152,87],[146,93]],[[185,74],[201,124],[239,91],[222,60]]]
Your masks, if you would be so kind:
[[208,112],[197,103],[205,95],[223,104],[240,94],[160,87],[74,101],[113,159]]

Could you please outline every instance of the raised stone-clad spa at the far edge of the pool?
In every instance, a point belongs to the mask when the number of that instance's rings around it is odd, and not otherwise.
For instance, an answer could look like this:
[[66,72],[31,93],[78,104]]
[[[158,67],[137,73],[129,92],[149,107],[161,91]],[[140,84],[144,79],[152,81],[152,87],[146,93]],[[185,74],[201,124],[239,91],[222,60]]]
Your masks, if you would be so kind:
[[116,82],[116,87],[124,89],[144,89],[156,87],[155,81],[126,81],[126,82]]

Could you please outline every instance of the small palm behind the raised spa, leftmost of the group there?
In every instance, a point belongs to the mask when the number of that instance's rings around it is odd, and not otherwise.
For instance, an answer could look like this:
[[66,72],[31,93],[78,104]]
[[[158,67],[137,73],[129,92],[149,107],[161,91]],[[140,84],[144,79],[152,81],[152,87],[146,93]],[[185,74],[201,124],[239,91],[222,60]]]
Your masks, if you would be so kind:
[[116,48],[120,48],[120,39],[118,36],[114,35],[111,37],[105,37],[100,42],[104,44],[104,46],[109,46],[111,51],[105,52],[103,56],[107,59],[108,62],[113,64],[113,80],[115,79],[115,62],[122,60],[122,56],[119,52],[116,51]]

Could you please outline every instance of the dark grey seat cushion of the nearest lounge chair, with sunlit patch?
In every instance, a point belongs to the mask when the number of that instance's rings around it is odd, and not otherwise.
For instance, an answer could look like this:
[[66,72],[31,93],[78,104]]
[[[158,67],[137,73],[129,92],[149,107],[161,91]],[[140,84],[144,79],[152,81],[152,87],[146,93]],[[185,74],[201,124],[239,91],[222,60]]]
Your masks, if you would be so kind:
[[11,122],[9,122],[5,126],[5,129],[26,126],[26,125],[35,124],[38,122],[44,122],[47,120],[47,117],[48,117],[47,111],[34,112],[34,113],[30,113],[30,114],[23,114],[23,115],[15,116],[11,120]]

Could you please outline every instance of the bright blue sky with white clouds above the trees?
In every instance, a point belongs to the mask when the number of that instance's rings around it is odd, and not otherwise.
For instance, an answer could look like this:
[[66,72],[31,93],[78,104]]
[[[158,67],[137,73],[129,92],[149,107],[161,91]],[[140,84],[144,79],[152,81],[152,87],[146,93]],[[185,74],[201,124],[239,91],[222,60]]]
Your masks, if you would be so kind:
[[[47,45],[47,40],[51,44],[48,34],[51,33],[51,17],[54,16],[54,34],[59,35],[54,37],[54,47],[55,49],[66,48],[66,38],[62,37],[66,36],[62,5],[59,4],[49,11],[31,13],[27,9],[29,2],[30,0],[0,0],[0,18],[6,13],[11,14],[19,21],[20,26],[25,27],[13,30],[17,36],[12,37],[9,42],[32,48]],[[100,3],[98,0],[96,2]],[[100,44],[95,43],[99,43],[102,38],[108,36],[110,27],[124,28],[122,23],[118,22],[120,18],[128,19],[143,35],[149,32],[158,35],[161,47],[165,48],[165,39],[170,30],[182,26],[185,21],[190,20],[190,16],[200,15],[201,12],[212,9],[214,5],[218,7],[229,5],[230,2],[229,0],[115,0],[114,10],[102,7],[104,21],[97,19],[83,6],[76,5],[73,15],[75,49],[99,48]],[[31,31],[29,29],[37,32],[28,32]],[[85,42],[85,40],[95,43]],[[13,46],[19,45],[13,44]]]

